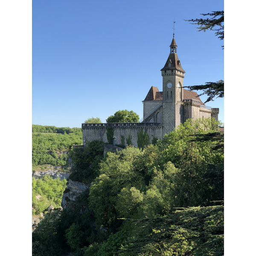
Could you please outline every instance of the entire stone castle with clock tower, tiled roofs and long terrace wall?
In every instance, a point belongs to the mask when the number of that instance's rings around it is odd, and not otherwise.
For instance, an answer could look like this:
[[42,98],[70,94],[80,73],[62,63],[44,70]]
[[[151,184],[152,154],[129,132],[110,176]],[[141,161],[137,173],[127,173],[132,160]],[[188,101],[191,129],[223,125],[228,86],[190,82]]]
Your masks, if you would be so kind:
[[92,140],[107,143],[107,128],[114,130],[113,144],[121,144],[121,136],[130,137],[137,146],[137,133],[147,132],[150,143],[154,137],[162,139],[186,119],[214,117],[218,120],[218,108],[204,105],[196,92],[183,88],[185,70],[177,55],[177,44],[173,35],[170,54],[160,70],[163,90],[152,86],[143,100],[143,120],[139,123],[82,123],[83,145]]

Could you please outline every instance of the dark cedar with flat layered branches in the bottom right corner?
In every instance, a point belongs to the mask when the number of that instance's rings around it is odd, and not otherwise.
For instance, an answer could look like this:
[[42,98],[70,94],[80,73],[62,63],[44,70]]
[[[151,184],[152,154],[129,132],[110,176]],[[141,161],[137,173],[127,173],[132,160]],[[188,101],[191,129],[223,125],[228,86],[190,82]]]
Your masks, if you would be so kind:
[[224,207],[218,203],[220,205],[181,208],[161,218],[127,220],[130,239],[118,255],[223,255]]

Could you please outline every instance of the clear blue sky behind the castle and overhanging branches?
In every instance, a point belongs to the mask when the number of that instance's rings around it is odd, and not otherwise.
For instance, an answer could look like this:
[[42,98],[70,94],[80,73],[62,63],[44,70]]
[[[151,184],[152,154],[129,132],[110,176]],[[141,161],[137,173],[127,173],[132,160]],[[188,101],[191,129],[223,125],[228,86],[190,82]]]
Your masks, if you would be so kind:
[[[32,1],[32,123],[81,127],[122,109],[142,118],[150,87],[162,90],[174,20],[184,86],[224,79],[224,42],[185,21],[223,9],[222,0]],[[224,122],[224,99],[207,105]]]

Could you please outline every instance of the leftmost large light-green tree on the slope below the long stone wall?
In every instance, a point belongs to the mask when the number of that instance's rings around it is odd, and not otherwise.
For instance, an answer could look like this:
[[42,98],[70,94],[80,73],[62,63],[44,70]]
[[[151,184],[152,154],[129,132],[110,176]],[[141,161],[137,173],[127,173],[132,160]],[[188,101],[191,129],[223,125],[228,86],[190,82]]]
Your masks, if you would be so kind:
[[100,163],[100,175],[90,186],[90,209],[96,215],[96,224],[116,232],[121,221],[117,219],[116,201],[123,187],[140,188],[143,185],[141,172],[134,162],[142,154],[140,149],[127,147],[116,153],[108,152],[105,161]]

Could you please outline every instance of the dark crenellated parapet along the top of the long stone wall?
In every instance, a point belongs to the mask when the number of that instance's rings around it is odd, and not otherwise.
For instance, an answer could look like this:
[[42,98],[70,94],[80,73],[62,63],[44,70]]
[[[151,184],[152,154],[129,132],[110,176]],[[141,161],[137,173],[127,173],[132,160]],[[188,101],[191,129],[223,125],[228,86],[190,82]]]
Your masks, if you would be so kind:
[[143,127],[161,127],[162,122],[143,122],[143,123],[82,123],[82,129],[92,128],[143,128]]

